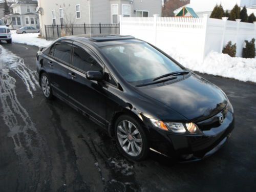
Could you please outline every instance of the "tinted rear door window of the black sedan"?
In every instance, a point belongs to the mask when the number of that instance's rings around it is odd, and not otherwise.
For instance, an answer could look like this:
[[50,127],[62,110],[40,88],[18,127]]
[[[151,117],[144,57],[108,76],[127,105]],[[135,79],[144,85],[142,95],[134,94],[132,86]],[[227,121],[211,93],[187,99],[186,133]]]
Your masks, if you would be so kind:
[[66,43],[56,43],[51,50],[51,54],[57,59],[70,63],[71,45]]

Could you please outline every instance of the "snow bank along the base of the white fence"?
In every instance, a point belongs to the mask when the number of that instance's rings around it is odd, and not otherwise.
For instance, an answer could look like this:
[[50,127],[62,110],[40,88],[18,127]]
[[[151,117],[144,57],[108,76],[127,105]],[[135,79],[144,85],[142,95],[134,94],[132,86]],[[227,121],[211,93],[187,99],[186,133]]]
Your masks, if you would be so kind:
[[196,59],[180,55],[175,49],[169,55],[179,61],[181,65],[193,71],[256,82],[255,58],[230,57],[227,54],[211,52],[203,62],[199,62]]

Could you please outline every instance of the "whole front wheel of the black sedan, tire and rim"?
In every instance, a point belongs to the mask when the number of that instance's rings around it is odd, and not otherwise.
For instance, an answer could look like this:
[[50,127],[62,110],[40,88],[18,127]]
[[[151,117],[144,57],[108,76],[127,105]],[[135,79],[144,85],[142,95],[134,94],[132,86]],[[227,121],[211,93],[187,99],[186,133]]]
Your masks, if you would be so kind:
[[129,115],[118,117],[115,122],[115,138],[117,148],[124,157],[134,161],[147,158],[149,147],[146,134],[135,118]]

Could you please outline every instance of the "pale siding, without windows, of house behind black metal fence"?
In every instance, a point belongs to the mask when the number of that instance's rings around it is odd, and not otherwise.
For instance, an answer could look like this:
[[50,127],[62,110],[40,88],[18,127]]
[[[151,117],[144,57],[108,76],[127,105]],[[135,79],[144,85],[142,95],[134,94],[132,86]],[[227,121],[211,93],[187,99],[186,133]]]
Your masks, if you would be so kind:
[[[122,14],[122,4],[131,5],[131,16],[136,16],[134,10],[148,10],[149,16],[159,14],[161,16],[161,0],[38,0],[38,6],[43,9],[40,15],[40,25],[45,35],[45,25],[52,25],[52,10],[56,13],[56,25],[60,25],[59,8],[63,8],[65,17],[76,16],[76,4],[80,4],[81,18],[69,19],[72,24],[111,24],[112,4],[118,4],[118,15]],[[89,9],[90,6],[90,9]],[[65,22],[64,22],[65,23]]]

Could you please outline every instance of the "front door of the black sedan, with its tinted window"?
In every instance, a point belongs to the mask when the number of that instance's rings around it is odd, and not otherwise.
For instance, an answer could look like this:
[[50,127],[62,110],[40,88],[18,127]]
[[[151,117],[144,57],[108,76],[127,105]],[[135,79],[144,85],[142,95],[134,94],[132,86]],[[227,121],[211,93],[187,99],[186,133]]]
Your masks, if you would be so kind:
[[90,49],[80,46],[77,43],[73,47],[73,62],[68,72],[69,100],[96,122],[105,125],[106,90],[101,82],[86,78],[87,71],[103,73],[103,65]]

